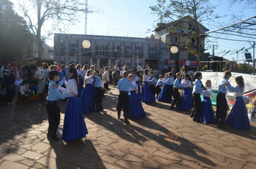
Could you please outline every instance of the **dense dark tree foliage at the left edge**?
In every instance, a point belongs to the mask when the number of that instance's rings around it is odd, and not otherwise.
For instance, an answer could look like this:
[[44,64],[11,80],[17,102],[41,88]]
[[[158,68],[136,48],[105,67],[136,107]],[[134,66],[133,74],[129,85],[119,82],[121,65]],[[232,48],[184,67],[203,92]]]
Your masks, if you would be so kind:
[[0,62],[27,62],[35,54],[35,37],[24,19],[12,9],[12,2],[0,0]]

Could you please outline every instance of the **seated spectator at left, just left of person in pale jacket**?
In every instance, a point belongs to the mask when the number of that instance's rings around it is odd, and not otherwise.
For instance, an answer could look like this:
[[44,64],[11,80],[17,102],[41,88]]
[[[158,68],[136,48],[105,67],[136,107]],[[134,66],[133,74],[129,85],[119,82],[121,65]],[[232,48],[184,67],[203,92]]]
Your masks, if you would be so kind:
[[18,95],[20,104],[22,104],[22,102],[27,103],[26,100],[32,96],[32,92],[29,90],[29,79],[24,79],[19,85]]

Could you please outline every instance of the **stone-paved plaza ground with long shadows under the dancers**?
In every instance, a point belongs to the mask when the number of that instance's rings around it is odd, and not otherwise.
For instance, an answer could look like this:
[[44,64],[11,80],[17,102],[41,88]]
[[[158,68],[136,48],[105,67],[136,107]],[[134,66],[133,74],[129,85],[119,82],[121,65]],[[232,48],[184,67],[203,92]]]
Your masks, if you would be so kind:
[[[256,123],[252,129],[219,130],[193,122],[190,112],[170,103],[142,103],[147,117],[117,119],[118,90],[104,97],[104,112],[84,114],[89,134],[83,140],[47,140],[45,103],[0,107],[0,169],[25,168],[256,168]],[[58,102],[61,136],[65,100]],[[166,139],[168,133],[173,137]],[[176,137],[177,136],[177,137]]]

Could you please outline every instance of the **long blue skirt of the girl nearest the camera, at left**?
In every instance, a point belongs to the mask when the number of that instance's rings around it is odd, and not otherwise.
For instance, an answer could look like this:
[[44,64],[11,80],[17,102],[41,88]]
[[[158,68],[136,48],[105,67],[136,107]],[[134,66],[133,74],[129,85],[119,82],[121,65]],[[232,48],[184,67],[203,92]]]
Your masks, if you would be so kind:
[[70,141],[88,134],[86,122],[83,118],[81,102],[78,97],[69,97],[65,107],[62,140]]

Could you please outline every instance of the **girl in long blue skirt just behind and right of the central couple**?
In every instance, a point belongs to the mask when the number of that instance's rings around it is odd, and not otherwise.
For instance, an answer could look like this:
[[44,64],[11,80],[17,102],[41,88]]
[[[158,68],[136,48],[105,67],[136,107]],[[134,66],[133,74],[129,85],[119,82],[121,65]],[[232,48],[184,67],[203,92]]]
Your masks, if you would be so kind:
[[144,70],[143,81],[142,81],[142,102],[155,102],[155,96],[150,91],[150,87],[148,86],[148,82],[152,82],[152,80],[148,77],[148,70]]

